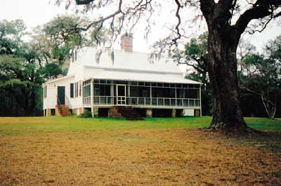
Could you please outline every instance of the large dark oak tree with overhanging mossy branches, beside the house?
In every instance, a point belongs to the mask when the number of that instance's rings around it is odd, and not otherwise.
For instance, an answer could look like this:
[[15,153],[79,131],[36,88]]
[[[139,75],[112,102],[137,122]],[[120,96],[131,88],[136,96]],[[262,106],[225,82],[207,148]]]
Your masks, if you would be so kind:
[[[60,0],[57,1],[60,4]],[[150,22],[152,14],[155,13],[154,6],[161,6],[161,2],[153,0],[116,1],[110,0],[68,0],[66,7],[75,2],[84,6],[83,11],[98,11],[101,7],[116,7],[116,11],[93,18],[86,27],[87,30],[96,27],[99,30],[105,27],[112,29],[112,35],[119,34],[124,22],[131,21],[136,25],[140,18]],[[171,1],[171,9],[176,10],[178,21],[172,31],[176,34],[167,37],[170,44],[176,44],[181,39],[181,19],[188,17],[191,11],[185,15],[181,9],[193,6],[197,7],[207,22],[209,32],[208,38],[208,72],[211,87],[214,92],[214,113],[211,128],[224,132],[246,131],[240,108],[240,92],[237,82],[237,57],[236,51],[243,32],[261,32],[268,22],[281,15],[280,0],[174,0]],[[250,25],[251,22],[251,25]],[[188,27],[188,25],[184,25]],[[148,26],[150,29],[150,26]]]

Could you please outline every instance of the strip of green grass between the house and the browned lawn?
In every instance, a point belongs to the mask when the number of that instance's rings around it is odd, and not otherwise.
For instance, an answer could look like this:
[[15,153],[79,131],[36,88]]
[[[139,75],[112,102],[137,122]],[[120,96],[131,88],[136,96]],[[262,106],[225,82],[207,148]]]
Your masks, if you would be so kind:
[[[245,118],[251,128],[263,131],[281,131],[281,119]],[[203,128],[211,117],[147,118],[126,121],[112,118],[79,117],[1,117],[0,134],[48,133],[62,131],[97,131],[145,128]]]

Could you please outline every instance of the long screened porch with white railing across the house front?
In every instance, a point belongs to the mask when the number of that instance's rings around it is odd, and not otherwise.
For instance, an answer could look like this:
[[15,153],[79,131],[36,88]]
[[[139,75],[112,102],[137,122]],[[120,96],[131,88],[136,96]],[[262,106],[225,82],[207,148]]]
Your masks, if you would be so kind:
[[201,107],[200,84],[89,79],[83,82],[84,107]]

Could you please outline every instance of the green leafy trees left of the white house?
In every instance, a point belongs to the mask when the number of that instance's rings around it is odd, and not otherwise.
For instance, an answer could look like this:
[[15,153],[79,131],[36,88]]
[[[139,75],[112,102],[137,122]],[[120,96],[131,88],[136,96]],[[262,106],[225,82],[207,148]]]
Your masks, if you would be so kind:
[[27,32],[22,20],[0,20],[0,117],[42,115],[41,85],[67,73],[74,46],[88,42],[70,28],[84,22],[61,16]]

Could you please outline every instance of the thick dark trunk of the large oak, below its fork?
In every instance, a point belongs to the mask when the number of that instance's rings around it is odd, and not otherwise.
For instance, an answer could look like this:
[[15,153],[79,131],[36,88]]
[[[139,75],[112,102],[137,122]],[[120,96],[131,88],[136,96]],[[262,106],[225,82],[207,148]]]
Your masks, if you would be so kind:
[[208,71],[214,93],[214,110],[211,128],[223,132],[246,131],[242,117],[240,91],[237,81],[237,38],[229,29],[209,29]]

